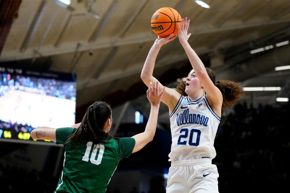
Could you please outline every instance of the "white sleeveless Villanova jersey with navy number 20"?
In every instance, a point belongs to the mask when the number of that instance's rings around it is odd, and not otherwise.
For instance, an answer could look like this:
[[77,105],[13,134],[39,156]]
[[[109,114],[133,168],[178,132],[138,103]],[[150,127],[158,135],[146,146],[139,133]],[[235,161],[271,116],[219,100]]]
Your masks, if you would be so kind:
[[170,115],[172,144],[169,161],[213,159],[216,156],[214,138],[220,120],[205,96],[196,101],[181,96]]

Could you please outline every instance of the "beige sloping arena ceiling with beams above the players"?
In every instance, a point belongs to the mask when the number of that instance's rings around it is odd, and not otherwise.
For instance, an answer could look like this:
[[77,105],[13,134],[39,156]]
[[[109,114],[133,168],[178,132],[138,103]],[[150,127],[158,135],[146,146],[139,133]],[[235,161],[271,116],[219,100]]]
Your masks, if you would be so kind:
[[[204,0],[210,8],[194,0],[71,0],[67,8],[56,2],[22,0],[0,65],[75,73],[77,112],[97,100],[113,106],[131,100],[140,110],[148,109],[140,72],[156,39],[150,19],[161,7],[174,8],[191,20],[189,43],[218,72],[217,79],[241,81],[247,87],[282,87],[247,94],[244,100],[275,103],[276,96],[289,96],[290,72],[274,71],[290,64],[289,44],[275,46],[290,39],[288,0]],[[162,47],[153,75],[175,87],[190,68],[176,39]],[[167,116],[162,109],[160,116]]]

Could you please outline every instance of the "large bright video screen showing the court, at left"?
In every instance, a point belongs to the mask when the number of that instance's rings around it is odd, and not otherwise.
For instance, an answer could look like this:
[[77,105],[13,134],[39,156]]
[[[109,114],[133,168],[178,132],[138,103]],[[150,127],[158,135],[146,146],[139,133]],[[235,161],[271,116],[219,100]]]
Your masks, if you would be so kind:
[[0,67],[0,109],[0,139],[33,140],[30,132],[39,126],[69,127],[75,123],[76,77]]

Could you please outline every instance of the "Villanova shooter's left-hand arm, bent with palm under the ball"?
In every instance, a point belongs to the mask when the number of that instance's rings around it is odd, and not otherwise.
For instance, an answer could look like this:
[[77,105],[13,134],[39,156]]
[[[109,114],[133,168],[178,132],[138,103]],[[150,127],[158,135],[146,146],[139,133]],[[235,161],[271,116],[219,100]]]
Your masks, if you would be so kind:
[[[158,81],[155,77],[153,77],[153,69],[155,66],[156,57],[158,55],[161,46],[163,46],[168,42],[171,42],[175,38],[176,36],[172,37],[172,35],[169,35],[168,37],[165,38],[158,37],[155,40],[153,46],[151,47],[147,55],[146,61],[144,63],[141,72],[141,79],[147,85],[147,87],[150,86],[150,82]],[[162,84],[159,84],[159,90],[162,90],[163,87],[164,86]],[[176,106],[176,103],[178,102],[179,98],[180,94],[176,90],[166,88],[161,98],[161,101],[169,107],[169,113],[171,113],[174,110],[174,107]]]

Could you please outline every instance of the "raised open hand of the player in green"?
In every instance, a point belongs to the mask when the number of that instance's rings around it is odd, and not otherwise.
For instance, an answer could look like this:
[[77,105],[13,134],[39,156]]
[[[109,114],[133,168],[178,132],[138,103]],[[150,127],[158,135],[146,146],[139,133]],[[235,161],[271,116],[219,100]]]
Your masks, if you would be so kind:
[[159,93],[159,87],[158,87],[158,81],[150,82],[150,87],[147,90],[147,99],[153,106],[159,106],[161,102],[161,96],[163,95],[165,90],[165,87],[163,87],[163,90]]

